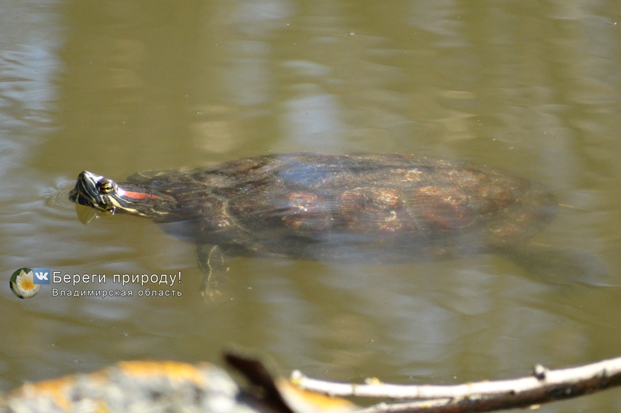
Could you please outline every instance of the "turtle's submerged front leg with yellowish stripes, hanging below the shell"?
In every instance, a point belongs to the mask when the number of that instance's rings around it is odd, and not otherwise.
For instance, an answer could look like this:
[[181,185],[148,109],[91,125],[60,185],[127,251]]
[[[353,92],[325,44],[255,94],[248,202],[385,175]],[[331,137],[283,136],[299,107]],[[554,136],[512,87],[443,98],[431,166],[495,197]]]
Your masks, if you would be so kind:
[[209,244],[198,244],[196,257],[202,273],[201,295],[206,300],[215,300],[217,296],[222,295],[219,286],[226,281],[229,271],[226,257],[219,246]]

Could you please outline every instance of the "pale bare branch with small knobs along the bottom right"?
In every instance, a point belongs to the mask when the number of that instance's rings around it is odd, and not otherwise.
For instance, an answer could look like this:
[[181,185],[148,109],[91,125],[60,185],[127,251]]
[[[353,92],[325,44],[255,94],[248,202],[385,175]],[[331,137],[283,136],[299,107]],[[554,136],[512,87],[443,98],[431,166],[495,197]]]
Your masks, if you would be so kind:
[[489,412],[535,406],[619,386],[621,357],[558,370],[537,365],[531,376],[523,378],[455,385],[405,386],[374,383],[374,380],[367,384],[333,383],[308,378],[300,371],[292,373],[291,381],[301,389],[331,396],[413,400],[382,403],[359,413]]

